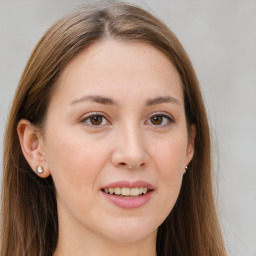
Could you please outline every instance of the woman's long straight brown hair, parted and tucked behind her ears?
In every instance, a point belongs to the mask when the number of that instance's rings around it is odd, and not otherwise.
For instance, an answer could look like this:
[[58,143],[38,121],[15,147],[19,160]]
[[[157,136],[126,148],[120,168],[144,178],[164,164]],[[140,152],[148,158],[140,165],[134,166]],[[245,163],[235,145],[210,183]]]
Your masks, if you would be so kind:
[[3,158],[1,256],[49,256],[58,240],[51,177],[41,179],[25,160],[17,124],[43,127],[56,80],[67,63],[96,41],[141,41],[164,52],[183,81],[188,127],[195,124],[195,154],[179,198],[158,229],[158,256],[226,255],[212,192],[210,134],[199,84],[176,36],[136,6],[109,2],[84,6],[58,20],[35,47],[19,82],[6,127]]

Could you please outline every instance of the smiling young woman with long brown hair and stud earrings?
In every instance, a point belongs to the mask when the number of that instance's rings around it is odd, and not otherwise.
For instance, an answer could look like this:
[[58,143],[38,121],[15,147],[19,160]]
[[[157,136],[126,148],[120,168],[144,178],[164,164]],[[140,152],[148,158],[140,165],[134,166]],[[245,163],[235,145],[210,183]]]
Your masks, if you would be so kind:
[[5,136],[1,255],[226,255],[210,135],[175,35],[123,3],[33,51]]

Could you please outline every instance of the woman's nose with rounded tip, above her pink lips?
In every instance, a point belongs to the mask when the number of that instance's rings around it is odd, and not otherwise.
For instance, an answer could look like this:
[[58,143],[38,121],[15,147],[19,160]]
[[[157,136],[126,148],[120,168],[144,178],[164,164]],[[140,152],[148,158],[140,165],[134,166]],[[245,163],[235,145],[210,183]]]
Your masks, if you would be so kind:
[[149,163],[143,136],[138,129],[120,129],[115,138],[112,163],[126,169],[144,168]]

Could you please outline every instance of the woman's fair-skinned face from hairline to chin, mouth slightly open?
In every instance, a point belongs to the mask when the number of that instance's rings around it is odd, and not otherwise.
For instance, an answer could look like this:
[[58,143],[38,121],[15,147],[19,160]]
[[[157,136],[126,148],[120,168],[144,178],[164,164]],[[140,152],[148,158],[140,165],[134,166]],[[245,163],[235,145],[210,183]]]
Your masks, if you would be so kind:
[[43,137],[60,235],[155,237],[193,156],[189,141],[182,82],[162,52],[112,40],[81,52],[58,80]]

